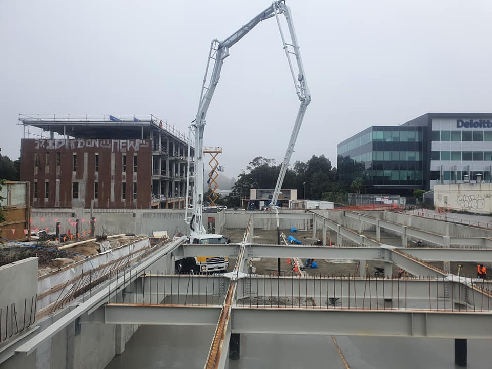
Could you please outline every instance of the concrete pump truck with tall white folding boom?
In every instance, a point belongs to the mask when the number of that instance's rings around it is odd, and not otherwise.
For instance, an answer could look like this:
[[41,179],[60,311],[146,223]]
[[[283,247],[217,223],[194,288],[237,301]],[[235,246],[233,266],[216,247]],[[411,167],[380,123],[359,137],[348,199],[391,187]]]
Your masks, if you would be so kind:
[[[287,28],[289,30],[290,39],[285,40],[285,35],[282,30],[280,15],[285,16]],[[186,193],[186,210],[185,221],[190,227],[189,242],[197,244],[206,243],[229,243],[230,240],[227,237],[219,234],[207,234],[203,226],[202,207],[203,207],[203,132],[205,128],[205,117],[209,108],[212,96],[215,88],[217,87],[220,71],[224,59],[229,56],[229,48],[236,44],[242,37],[244,37],[249,31],[251,31],[262,20],[275,17],[277,25],[280,31],[280,37],[282,40],[282,47],[287,57],[289,68],[291,71],[292,79],[294,81],[294,87],[297,97],[301,101],[300,107],[296,116],[292,134],[287,146],[285,156],[282,161],[280,173],[277,179],[275,190],[271,201],[271,209],[276,211],[277,218],[277,234],[280,242],[280,225],[278,217],[278,209],[276,203],[280,194],[283,179],[289,166],[292,153],[294,152],[295,142],[299,129],[302,125],[302,120],[308,105],[311,101],[311,94],[309,92],[308,84],[306,82],[306,76],[304,73],[304,67],[302,65],[301,54],[297,43],[297,37],[294,30],[294,24],[292,22],[292,15],[290,8],[285,5],[285,1],[274,1],[267,9],[263,10],[260,14],[251,19],[247,24],[243,25],[240,29],[234,32],[232,35],[219,41],[213,40],[210,46],[209,57],[207,60],[207,67],[205,70],[205,76],[203,78],[203,84],[201,88],[200,100],[198,104],[198,111],[195,120],[189,127],[189,144],[188,144],[188,163],[187,163],[187,193]],[[209,67],[212,64],[212,68]],[[296,68],[297,67],[297,68]],[[210,73],[210,76],[209,76]],[[208,84],[207,84],[208,81]],[[188,196],[190,194],[190,143],[192,137],[194,137],[194,188],[193,188],[193,200],[191,209],[188,207]],[[176,269],[180,273],[188,272],[200,272],[206,273],[210,271],[225,271],[228,268],[227,257],[183,257],[180,260],[176,260]]]

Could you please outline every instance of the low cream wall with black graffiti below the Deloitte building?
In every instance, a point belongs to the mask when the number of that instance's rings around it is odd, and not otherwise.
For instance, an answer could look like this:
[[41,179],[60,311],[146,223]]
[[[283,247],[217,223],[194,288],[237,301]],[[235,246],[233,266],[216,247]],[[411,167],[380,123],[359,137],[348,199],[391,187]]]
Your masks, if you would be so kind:
[[456,211],[492,214],[492,183],[434,185],[434,205]]

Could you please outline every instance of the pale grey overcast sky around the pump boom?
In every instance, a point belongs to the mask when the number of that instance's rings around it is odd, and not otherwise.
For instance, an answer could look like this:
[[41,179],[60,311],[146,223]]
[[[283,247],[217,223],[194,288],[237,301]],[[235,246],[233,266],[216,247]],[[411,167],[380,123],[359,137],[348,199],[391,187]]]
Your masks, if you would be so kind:
[[[26,114],[154,114],[183,132],[196,114],[210,41],[270,0],[0,0],[2,154],[20,155]],[[489,0],[319,1],[290,6],[312,103],[295,160],[371,125],[426,112],[490,112]],[[255,156],[281,162],[297,99],[275,20],[230,50],[205,144],[225,175]]]

